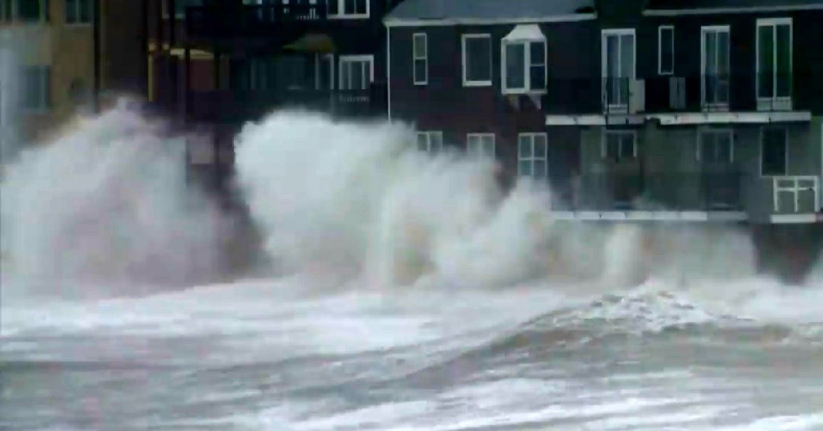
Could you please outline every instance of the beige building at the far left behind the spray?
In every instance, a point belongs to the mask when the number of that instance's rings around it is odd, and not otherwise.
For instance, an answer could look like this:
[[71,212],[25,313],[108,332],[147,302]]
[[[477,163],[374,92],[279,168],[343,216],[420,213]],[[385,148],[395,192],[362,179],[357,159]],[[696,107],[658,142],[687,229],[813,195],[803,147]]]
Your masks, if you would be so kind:
[[36,142],[91,107],[92,0],[2,0],[4,127]]

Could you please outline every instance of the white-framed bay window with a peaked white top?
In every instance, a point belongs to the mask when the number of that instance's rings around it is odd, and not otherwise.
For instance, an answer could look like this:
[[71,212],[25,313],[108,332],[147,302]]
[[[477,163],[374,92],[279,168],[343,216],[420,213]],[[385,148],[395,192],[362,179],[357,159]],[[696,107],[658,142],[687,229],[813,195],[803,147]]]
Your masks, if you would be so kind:
[[504,94],[546,92],[546,36],[536,24],[518,25],[501,42]]

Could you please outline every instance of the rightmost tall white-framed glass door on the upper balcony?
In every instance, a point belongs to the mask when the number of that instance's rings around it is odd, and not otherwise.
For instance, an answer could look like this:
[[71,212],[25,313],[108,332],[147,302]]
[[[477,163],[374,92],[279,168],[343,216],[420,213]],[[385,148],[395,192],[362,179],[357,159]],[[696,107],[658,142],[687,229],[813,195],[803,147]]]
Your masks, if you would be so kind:
[[[792,96],[792,18],[757,20],[757,100]],[[790,107],[785,107],[790,109]]]

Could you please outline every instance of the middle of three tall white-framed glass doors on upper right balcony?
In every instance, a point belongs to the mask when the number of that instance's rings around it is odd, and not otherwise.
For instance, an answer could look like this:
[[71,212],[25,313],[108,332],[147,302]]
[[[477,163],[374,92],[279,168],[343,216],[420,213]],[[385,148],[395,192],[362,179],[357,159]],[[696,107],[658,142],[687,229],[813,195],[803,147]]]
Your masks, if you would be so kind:
[[728,107],[729,38],[728,25],[703,27],[700,81],[704,106]]

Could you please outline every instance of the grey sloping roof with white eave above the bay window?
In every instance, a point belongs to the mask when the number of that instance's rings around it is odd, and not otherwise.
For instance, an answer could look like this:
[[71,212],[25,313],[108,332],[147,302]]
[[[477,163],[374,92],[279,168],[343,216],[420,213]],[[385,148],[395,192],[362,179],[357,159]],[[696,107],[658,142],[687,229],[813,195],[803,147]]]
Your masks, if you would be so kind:
[[[594,17],[595,0],[406,0],[387,25],[577,21]],[[588,8],[588,9],[587,9]]]

